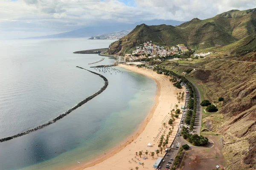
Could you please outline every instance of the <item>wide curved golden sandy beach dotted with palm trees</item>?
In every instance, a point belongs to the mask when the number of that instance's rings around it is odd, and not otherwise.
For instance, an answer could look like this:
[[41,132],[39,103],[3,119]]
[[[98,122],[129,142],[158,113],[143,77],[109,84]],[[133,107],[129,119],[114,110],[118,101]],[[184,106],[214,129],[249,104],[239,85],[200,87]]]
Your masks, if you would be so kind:
[[[151,109],[151,112],[146,117],[140,128],[130,136],[128,139],[124,139],[123,144],[117,146],[111,153],[105,153],[102,157],[93,160],[87,164],[81,164],[80,167],[76,167],[73,170],[128,170],[135,169],[135,167],[143,168],[139,162],[144,163],[144,168],[154,170],[153,164],[157,160],[158,156],[155,150],[159,149],[158,144],[161,135],[167,135],[169,128],[174,127],[172,135],[169,137],[168,147],[175,138],[178,125],[181,120],[181,113],[179,118],[175,118],[175,122],[172,125],[168,125],[169,119],[171,119],[171,110],[175,109],[175,105],[178,104],[176,98],[177,93],[185,91],[184,88],[177,89],[169,81],[169,77],[163,74],[157,74],[155,71],[137,68],[128,65],[119,65],[119,67],[143,74],[148,76],[157,83],[157,95],[155,97],[155,104]],[[178,104],[180,108],[184,105],[184,102]],[[170,114],[169,114],[170,113]],[[163,123],[166,123],[166,127],[163,127]],[[152,147],[148,147],[148,143],[152,144]],[[142,151],[143,155],[136,156],[136,152]],[[148,151],[148,156],[145,152]],[[151,156],[151,152],[154,152],[154,158]],[[159,153],[160,157],[163,157],[165,151],[162,154]],[[143,159],[148,157],[148,159]]]

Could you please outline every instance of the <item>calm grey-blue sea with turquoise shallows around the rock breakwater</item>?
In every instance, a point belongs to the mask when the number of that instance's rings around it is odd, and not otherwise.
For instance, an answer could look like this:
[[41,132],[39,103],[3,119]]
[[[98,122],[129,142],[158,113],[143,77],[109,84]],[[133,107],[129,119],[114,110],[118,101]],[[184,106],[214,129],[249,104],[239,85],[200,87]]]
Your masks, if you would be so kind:
[[108,88],[68,116],[36,132],[0,143],[0,170],[54,170],[85,163],[133,133],[154,104],[152,79],[123,68],[90,66],[114,59],[73,51],[107,48],[113,40],[0,40],[0,138],[37,127]]

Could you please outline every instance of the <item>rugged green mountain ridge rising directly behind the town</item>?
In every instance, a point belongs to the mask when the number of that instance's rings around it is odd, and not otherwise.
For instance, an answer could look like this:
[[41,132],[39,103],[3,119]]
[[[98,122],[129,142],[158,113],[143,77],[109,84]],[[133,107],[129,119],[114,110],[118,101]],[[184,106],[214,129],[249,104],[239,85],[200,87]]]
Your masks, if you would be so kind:
[[228,45],[249,35],[256,34],[256,8],[244,11],[231,10],[215,17],[200,20],[194,18],[179,26],[147,26],[141,24],[130,34],[113,42],[110,54],[123,55],[143,42],[160,45],[186,44],[189,48],[209,48]]

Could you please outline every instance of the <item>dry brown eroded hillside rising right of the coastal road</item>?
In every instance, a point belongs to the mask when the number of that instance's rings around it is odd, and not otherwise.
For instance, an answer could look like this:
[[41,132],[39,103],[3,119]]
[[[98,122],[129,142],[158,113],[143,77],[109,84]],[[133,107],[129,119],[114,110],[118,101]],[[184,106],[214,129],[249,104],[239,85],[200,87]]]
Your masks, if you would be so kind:
[[[222,153],[227,170],[255,170],[256,62],[206,58],[197,59],[197,63],[205,68],[194,64],[175,65],[167,60],[157,65],[177,73],[196,69],[186,78],[198,86],[203,99],[217,105],[219,110],[203,113],[202,130],[207,129],[207,132],[201,133],[223,136]],[[224,101],[219,101],[220,97]]]

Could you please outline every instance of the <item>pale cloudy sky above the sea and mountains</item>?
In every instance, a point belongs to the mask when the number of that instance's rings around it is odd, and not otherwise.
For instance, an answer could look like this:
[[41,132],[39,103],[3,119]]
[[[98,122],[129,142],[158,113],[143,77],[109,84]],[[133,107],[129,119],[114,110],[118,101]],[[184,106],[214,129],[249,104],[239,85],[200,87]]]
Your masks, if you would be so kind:
[[256,0],[0,0],[0,39],[57,34],[99,23],[206,19]]

